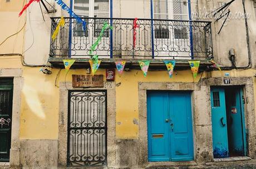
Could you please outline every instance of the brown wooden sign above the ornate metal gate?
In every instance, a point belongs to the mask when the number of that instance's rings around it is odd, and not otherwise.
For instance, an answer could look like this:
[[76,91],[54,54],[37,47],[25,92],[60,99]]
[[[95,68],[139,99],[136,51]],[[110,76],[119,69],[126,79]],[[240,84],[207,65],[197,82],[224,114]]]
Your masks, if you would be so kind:
[[103,75],[72,75],[72,86],[77,87],[103,87]]

